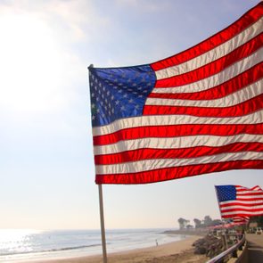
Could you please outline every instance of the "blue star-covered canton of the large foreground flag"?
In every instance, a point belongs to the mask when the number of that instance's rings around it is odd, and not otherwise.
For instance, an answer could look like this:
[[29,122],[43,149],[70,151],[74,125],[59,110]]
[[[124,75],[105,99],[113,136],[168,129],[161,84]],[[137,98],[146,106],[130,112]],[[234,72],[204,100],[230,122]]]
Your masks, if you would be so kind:
[[156,78],[149,65],[96,69],[89,68],[93,127],[116,119],[141,116]]

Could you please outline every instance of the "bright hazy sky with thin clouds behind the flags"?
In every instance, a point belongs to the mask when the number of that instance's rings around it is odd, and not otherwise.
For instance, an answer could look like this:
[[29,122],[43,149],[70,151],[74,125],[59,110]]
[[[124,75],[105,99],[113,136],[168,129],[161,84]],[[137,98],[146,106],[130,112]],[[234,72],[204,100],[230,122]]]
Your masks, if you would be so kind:
[[[0,0],[0,228],[99,229],[87,67],[159,61],[225,29],[251,0]],[[220,218],[214,185],[233,170],[103,185],[106,228]]]

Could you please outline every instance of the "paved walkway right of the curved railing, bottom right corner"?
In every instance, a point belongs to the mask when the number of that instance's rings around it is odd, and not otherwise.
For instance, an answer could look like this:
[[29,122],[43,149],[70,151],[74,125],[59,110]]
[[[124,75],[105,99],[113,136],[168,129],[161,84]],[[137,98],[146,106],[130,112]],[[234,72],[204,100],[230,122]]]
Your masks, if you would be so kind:
[[263,234],[246,234],[249,243],[249,263],[263,262]]

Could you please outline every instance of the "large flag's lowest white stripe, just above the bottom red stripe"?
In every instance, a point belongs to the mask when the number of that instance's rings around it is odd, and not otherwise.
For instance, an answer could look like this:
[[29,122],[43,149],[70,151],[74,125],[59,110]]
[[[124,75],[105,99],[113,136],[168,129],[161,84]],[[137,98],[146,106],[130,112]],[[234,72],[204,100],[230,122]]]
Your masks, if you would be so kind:
[[153,159],[127,163],[96,165],[97,175],[137,173],[160,168],[174,168],[186,165],[219,163],[231,160],[263,160],[263,152],[230,152],[189,159]]

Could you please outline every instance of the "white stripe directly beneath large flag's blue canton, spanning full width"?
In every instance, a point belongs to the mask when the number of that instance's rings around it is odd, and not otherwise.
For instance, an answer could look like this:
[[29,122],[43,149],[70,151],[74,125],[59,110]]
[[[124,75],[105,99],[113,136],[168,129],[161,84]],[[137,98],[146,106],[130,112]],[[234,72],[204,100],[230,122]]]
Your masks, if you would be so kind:
[[196,117],[190,115],[145,115],[141,117],[131,117],[117,119],[109,125],[93,127],[94,136],[103,136],[114,133],[123,128],[146,127],[146,126],[168,126],[184,124],[257,124],[263,122],[263,110],[256,111],[242,117],[232,118],[212,118]]

